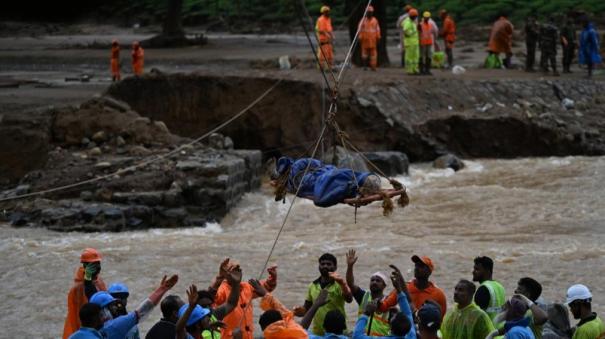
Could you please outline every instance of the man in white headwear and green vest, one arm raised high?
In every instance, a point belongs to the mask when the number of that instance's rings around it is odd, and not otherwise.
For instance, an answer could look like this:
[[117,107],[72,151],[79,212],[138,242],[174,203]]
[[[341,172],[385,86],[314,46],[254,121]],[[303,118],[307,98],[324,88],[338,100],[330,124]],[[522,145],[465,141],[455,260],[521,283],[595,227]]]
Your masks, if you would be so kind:
[[[355,285],[355,276],[353,274],[353,266],[357,262],[355,250],[349,250],[347,253],[347,285],[351,289],[351,293],[355,301],[359,305],[358,317],[362,316],[368,302],[382,303],[385,299],[384,289],[387,287],[387,277],[382,272],[376,272],[370,277],[370,290],[366,291]],[[395,306],[395,304],[390,305]],[[369,333],[370,336],[384,337],[389,334],[391,327],[389,326],[388,308],[385,312],[376,310],[372,316],[372,321],[366,326],[364,333]],[[369,327],[369,330],[368,330]]]

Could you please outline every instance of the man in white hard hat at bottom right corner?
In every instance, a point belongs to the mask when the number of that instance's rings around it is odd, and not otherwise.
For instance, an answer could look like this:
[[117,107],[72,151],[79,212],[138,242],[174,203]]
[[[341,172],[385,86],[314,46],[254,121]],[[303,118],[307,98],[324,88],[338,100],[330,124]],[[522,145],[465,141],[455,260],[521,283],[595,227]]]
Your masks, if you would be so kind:
[[580,319],[572,339],[605,338],[605,325],[592,311],[592,293],[582,284],[571,286],[567,290],[567,306],[574,319]]

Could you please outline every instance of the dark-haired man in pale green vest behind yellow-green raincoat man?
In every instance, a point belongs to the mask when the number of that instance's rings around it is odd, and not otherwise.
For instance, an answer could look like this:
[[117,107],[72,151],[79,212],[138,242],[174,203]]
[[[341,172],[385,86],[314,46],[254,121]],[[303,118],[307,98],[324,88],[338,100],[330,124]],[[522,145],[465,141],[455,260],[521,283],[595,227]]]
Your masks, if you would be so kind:
[[[506,302],[504,287],[493,279],[493,272],[494,261],[490,257],[475,258],[473,281],[481,284],[475,293],[475,304],[484,310],[492,321],[502,311],[502,306]],[[496,324],[494,326],[499,327]]]

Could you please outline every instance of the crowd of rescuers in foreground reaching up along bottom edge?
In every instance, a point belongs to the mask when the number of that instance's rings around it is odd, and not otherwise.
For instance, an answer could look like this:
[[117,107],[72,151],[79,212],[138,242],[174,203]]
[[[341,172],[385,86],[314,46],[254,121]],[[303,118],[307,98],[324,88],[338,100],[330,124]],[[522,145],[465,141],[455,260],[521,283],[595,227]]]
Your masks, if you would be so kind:
[[[591,309],[592,294],[585,285],[569,287],[564,304],[546,304],[540,297],[540,283],[524,277],[507,300],[504,286],[493,278],[493,260],[477,257],[473,281],[462,279],[456,284],[454,305],[448,308],[445,292],[431,280],[436,265],[429,257],[411,257],[413,279],[406,281],[399,268],[389,265],[391,274],[372,274],[367,290],[355,280],[357,259],[354,250],[346,253],[343,278],[337,273],[337,258],[321,255],[319,277],[309,284],[302,306],[286,307],[272,294],[278,286],[277,267],[267,269],[267,279],[242,281],[241,266],[225,259],[206,290],[192,284],[185,299],[164,296],[178,281],[176,275],[164,276],[132,308],[128,287],[114,283],[106,288],[100,274],[101,254],[87,248],[69,291],[63,338],[142,338],[137,324],[159,304],[162,318],[146,339],[252,339],[261,337],[254,333],[253,299],[260,299],[263,313],[258,322],[267,339],[605,338],[605,326]],[[386,293],[389,284],[393,289]],[[350,329],[344,306],[353,300],[359,311]],[[575,327],[570,326],[568,309],[578,320]]]

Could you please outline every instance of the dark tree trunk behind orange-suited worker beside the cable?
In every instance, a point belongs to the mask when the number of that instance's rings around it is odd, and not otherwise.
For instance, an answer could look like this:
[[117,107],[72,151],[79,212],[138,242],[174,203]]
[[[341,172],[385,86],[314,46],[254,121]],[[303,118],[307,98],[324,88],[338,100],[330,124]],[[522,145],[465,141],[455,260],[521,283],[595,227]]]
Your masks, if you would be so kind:
[[[380,39],[380,43],[378,44],[379,66],[386,66],[389,64],[389,55],[387,53],[387,27],[389,26],[389,22],[387,20],[386,2],[387,1],[385,0],[372,1],[374,16],[378,19],[380,32],[382,34],[382,39]],[[345,0],[345,15],[348,18],[349,38],[351,41],[353,41],[353,38],[355,37],[359,21],[363,17],[367,4],[367,0]],[[353,51],[353,63],[357,66],[361,65],[361,46],[359,43]]]

